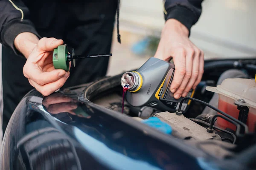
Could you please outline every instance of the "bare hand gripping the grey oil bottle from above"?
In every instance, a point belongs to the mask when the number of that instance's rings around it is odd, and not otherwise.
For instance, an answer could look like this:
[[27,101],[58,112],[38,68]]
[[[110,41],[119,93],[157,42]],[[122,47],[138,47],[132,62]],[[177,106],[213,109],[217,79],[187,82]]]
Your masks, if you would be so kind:
[[154,57],[169,61],[173,58],[175,74],[170,90],[175,99],[195,89],[204,73],[204,52],[189,40],[188,29],[179,21],[169,19],[163,28]]

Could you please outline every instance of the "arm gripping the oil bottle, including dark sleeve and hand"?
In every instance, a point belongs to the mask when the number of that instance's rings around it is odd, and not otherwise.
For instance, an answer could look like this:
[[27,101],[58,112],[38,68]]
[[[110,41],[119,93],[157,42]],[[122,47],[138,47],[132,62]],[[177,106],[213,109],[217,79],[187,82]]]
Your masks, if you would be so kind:
[[[170,90],[175,99],[195,89],[204,73],[204,52],[190,40],[190,28],[201,14],[202,0],[166,0],[166,23],[154,57],[173,59],[175,74]],[[195,9],[200,12],[195,12]]]

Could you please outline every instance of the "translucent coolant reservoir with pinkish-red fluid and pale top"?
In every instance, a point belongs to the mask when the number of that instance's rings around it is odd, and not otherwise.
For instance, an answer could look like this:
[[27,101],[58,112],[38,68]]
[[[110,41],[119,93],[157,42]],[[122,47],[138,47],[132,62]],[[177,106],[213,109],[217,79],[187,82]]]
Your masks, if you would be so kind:
[[[256,126],[256,80],[255,79],[225,79],[217,87],[207,87],[208,91],[219,94],[218,109],[246,123],[250,132]],[[236,105],[234,104],[236,102]],[[249,109],[248,116],[239,116],[238,106]],[[218,117],[216,125],[223,129],[236,130],[236,126]]]

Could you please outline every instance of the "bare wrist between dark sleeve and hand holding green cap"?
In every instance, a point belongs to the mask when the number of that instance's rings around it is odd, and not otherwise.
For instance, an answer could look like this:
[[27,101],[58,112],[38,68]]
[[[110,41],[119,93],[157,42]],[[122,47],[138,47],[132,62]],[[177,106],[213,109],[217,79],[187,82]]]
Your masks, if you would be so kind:
[[29,57],[32,49],[37,45],[39,38],[30,32],[23,32],[17,35],[14,40],[15,48],[20,51],[21,54],[26,57]]

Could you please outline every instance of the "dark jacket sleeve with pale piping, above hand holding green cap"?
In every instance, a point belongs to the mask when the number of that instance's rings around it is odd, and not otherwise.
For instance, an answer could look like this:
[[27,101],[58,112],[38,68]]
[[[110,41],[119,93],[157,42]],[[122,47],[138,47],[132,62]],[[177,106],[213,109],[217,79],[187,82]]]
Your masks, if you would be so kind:
[[33,23],[28,19],[29,9],[21,0],[0,0],[0,43],[9,46],[15,54],[15,37],[22,32],[31,32],[38,36]]

